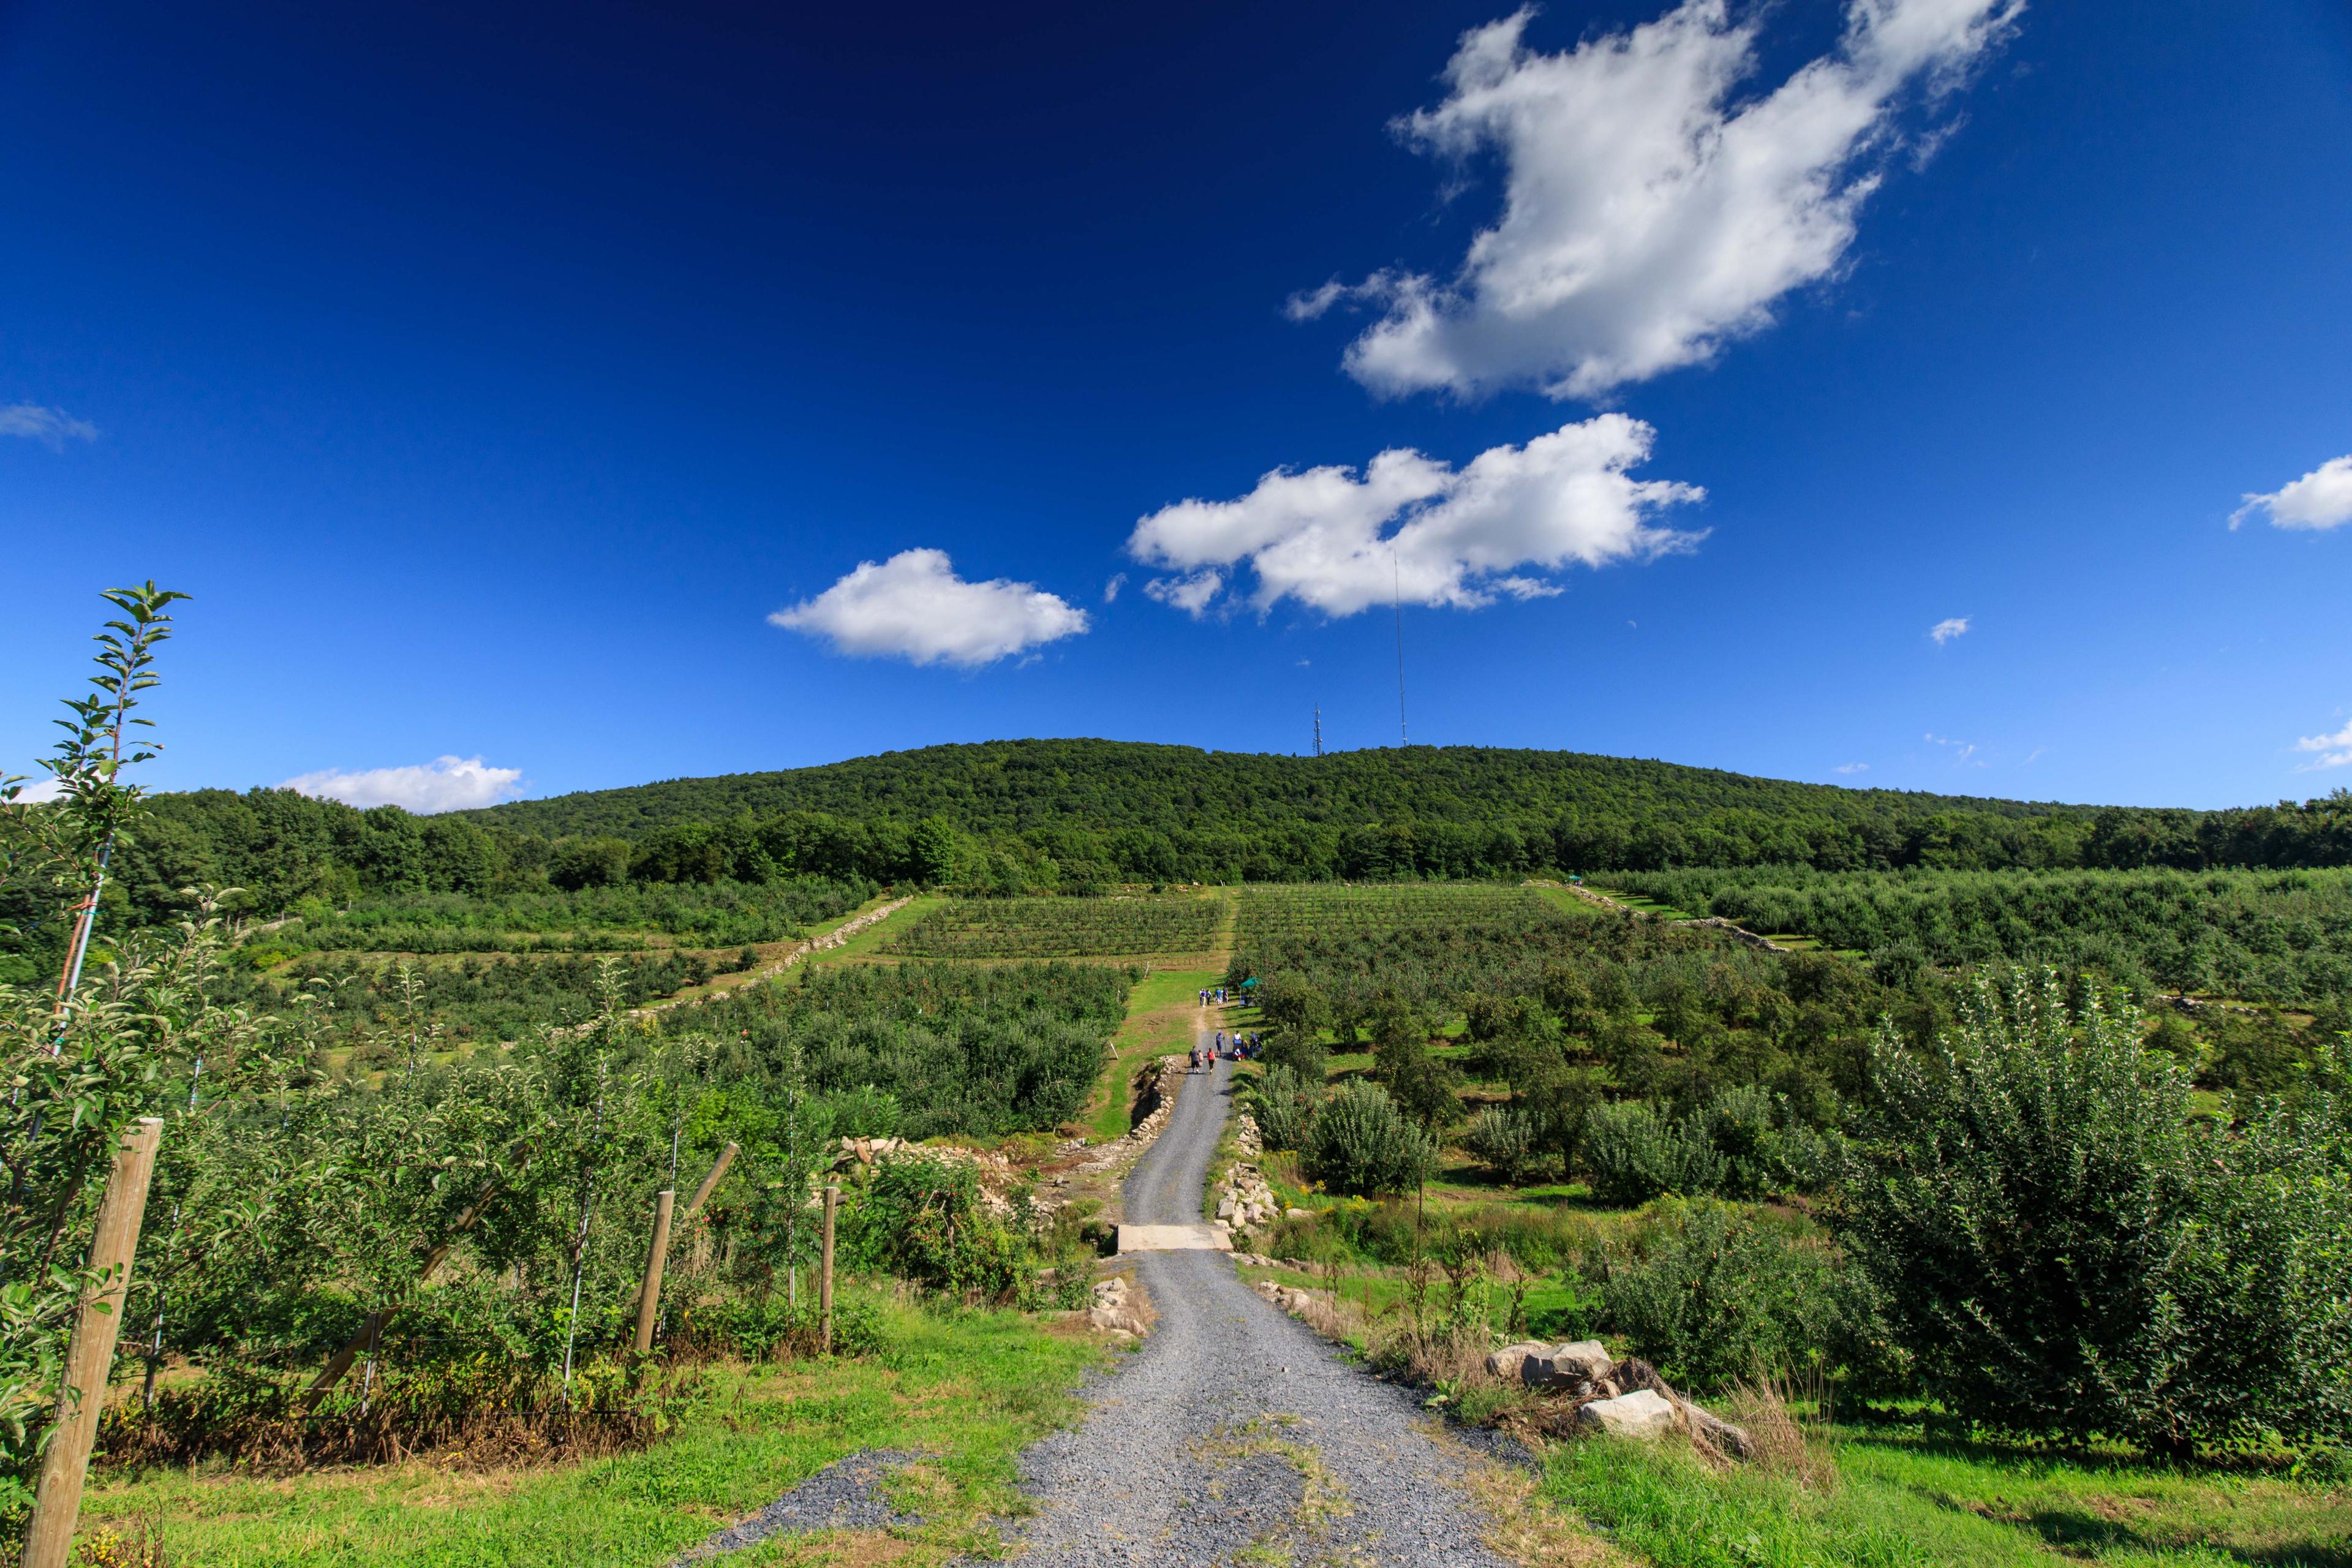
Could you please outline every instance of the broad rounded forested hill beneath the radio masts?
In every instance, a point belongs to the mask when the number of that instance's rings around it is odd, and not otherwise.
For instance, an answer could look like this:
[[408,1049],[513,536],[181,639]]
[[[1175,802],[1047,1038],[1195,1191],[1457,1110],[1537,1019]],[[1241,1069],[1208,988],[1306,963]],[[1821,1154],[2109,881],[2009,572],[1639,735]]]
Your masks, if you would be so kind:
[[[1054,879],[1512,875],[1670,865],[2343,865],[2352,802],[2246,811],[2060,806],[1750,778],[1581,752],[1399,748],[1279,757],[1127,741],[931,745],[675,778],[475,813],[534,837],[647,844],[687,825],[941,820]],[[1054,867],[1037,867],[1037,858]],[[849,870],[849,867],[828,867]],[[887,867],[858,867],[887,877]],[[971,875],[967,858],[964,872]],[[1056,877],[1058,872],[1058,877]]]

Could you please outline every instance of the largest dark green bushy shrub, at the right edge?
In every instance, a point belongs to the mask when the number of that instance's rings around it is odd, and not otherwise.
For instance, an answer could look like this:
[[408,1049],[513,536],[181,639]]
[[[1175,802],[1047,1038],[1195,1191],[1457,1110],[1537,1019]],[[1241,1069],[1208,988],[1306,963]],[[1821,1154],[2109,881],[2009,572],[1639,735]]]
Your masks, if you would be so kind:
[[2352,1432],[2345,1117],[2256,1110],[2192,1121],[2138,1018],[2056,976],[1980,983],[1929,1053],[1882,1039],[1842,1227],[1926,1392],[2171,1455]]

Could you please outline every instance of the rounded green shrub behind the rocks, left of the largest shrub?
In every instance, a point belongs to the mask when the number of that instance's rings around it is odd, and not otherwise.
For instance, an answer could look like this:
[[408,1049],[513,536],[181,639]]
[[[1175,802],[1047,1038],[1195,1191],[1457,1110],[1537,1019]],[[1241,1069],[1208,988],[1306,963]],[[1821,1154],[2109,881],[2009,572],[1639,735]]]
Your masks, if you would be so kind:
[[1604,1319],[1691,1389],[1835,1366],[1863,1300],[1825,1239],[1712,1199],[1668,1201],[1642,1253],[1602,1284]]

